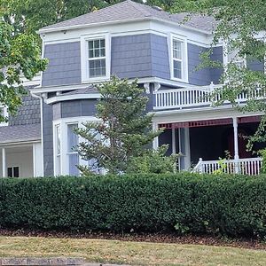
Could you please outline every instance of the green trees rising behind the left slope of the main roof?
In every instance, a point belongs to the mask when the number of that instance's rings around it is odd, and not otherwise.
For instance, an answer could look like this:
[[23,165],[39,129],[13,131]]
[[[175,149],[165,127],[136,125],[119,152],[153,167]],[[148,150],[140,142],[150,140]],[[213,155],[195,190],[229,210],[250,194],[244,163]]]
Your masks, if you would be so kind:
[[12,24],[16,33],[35,35],[41,27],[119,2],[121,0],[0,0],[0,16]]

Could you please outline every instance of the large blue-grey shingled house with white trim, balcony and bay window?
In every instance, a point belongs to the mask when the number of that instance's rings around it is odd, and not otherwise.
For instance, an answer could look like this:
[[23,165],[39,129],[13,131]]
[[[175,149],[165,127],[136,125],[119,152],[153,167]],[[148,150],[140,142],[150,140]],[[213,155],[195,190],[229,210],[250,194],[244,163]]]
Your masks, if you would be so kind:
[[[137,78],[145,88],[153,128],[165,128],[153,147],[168,144],[168,153],[182,153],[180,169],[196,165],[197,171],[212,172],[229,151],[230,171],[258,173],[261,159],[246,152],[241,136],[254,133],[262,113],[238,113],[229,104],[211,106],[206,96],[221,86],[223,69],[196,67],[200,53],[211,46],[215,20],[185,18],[185,13],[169,14],[127,0],[39,30],[43,57],[49,59],[40,84],[31,89],[40,99],[42,154],[34,160],[42,165],[41,176],[78,175],[75,165],[87,163],[72,149],[78,143],[73,129],[95,120],[100,95],[94,84],[111,74]],[[217,44],[211,57],[226,66],[230,58],[223,49],[223,43]],[[264,71],[263,63],[246,64]],[[246,95],[240,95],[239,102],[245,101]],[[2,165],[8,166],[9,158],[3,158]]]

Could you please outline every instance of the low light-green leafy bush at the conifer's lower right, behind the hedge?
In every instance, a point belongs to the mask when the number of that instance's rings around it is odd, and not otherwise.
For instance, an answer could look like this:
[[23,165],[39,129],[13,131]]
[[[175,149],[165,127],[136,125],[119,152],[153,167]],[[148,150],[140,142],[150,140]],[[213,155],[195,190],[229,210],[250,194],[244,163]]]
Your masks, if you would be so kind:
[[129,160],[126,172],[129,174],[167,174],[176,173],[178,155],[166,156],[168,145],[161,145],[157,150],[147,150],[142,156]]

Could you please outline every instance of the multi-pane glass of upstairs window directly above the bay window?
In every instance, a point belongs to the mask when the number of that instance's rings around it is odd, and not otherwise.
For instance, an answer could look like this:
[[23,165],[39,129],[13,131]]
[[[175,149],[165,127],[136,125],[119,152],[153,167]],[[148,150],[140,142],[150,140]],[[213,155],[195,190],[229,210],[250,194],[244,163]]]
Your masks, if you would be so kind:
[[106,76],[106,39],[88,41],[89,78]]

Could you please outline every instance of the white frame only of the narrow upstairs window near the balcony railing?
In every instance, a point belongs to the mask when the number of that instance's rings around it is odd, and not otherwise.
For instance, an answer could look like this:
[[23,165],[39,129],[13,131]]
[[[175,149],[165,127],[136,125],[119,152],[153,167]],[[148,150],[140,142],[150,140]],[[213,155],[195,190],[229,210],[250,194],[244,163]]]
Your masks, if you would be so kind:
[[[178,59],[181,61],[181,78],[176,78],[174,74],[174,51],[173,51],[173,43],[174,41],[181,43],[181,52],[182,59]],[[187,39],[184,36],[169,34],[168,35],[168,53],[169,53],[169,66],[170,66],[170,76],[171,80],[177,82],[188,82],[188,53],[187,53]]]

